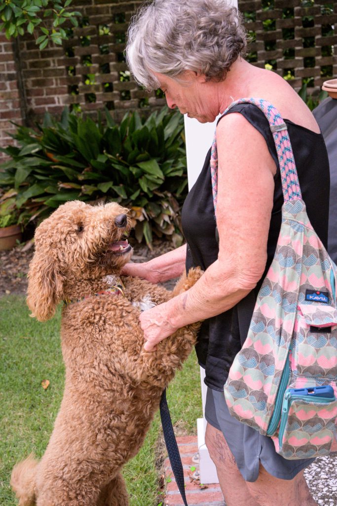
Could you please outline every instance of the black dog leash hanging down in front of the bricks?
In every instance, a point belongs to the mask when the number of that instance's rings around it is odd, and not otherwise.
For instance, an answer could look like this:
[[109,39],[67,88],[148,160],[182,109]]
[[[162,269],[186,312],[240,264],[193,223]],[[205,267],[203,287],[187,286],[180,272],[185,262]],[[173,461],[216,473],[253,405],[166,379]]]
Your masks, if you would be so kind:
[[172,427],[170,411],[167,405],[166,389],[164,390],[162,398],[160,399],[160,418],[162,420],[166,449],[170,459],[174,478],[177,482],[182,500],[184,501],[185,506],[188,506],[185,495],[184,472],[182,469],[180,453]]

